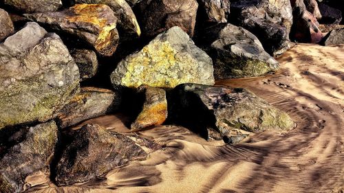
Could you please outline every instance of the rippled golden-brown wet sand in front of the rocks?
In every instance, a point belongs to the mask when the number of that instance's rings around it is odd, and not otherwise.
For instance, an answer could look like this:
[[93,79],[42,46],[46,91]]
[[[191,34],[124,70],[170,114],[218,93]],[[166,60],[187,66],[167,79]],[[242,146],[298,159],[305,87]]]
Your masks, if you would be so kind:
[[[343,192],[344,45],[299,44],[278,58],[272,76],[223,80],[286,111],[297,123],[288,133],[263,132],[245,143],[206,141],[186,128],[158,126],[138,135],[166,148],[146,161],[111,170],[103,179],[56,188],[28,179],[32,192]],[[92,122],[128,132],[125,118]],[[45,183],[44,183],[45,182]]]

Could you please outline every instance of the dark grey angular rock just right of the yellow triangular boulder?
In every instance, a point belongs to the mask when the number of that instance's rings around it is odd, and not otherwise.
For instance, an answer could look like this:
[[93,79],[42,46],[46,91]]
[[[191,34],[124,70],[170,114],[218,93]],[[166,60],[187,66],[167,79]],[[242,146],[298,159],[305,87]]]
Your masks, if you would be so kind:
[[262,76],[279,69],[258,38],[242,27],[230,23],[210,27],[204,42],[213,58],[215,79]]

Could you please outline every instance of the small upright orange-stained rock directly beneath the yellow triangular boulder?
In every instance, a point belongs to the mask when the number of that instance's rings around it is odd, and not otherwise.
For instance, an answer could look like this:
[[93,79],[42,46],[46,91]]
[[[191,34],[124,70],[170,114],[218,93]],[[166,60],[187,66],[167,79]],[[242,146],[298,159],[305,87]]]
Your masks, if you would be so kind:
[[141,113],[131,124],[131,129],[142,130],[142,128],[163,124],[167,118],[167,100],[164,89],[141,86],[139,91],[144,93],[145,101]]

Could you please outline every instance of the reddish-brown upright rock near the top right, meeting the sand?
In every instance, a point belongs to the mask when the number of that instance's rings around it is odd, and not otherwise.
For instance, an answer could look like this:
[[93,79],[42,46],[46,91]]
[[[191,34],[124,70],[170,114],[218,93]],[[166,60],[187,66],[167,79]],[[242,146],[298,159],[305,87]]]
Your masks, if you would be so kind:
[[301,0],[291,0],[293,25],[290,37],[293,41],[301,43],[318,43],[323,34],[319,30],[316,18],[305,8]]

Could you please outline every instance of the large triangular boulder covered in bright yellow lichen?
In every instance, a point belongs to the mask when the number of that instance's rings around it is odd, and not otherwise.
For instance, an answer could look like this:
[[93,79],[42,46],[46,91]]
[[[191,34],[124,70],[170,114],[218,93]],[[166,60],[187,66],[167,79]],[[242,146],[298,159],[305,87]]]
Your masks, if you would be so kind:
[[114,87],[133,88],[142,84],[173,88],[186,82],[212,85],[213,64],[180,27],[172,27],[120,61],[111,82]]

